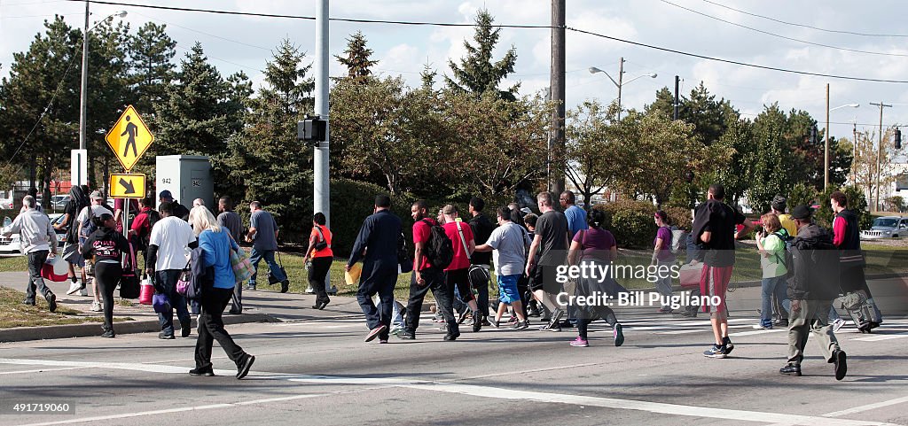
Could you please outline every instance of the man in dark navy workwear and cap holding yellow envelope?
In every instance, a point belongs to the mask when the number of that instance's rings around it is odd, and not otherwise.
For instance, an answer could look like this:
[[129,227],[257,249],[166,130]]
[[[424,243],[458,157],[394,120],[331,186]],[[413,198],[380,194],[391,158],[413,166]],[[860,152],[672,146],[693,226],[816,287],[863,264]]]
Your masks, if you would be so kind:
[[[382,344],[388,343],[394,286],[397,285],[398,239],[402,227],[400,218],[390,212],[390,207],[391,198],[387,195],[375,198],[375,213],[362,223],[346,266],[350,271],[351,266],[362,260],[360,289],[356,298],[369,325],[366,342],[378,337]],[[376,293],[379,294],[380,308],[372,303],[372,296]]]

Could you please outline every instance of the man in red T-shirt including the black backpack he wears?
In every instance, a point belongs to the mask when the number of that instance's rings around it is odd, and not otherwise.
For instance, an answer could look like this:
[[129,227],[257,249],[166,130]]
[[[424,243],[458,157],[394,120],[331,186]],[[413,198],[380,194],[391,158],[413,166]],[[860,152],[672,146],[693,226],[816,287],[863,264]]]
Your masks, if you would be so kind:
[[439,226],[439,222],[427,218],[428,211],[426,201],[422,199],[410,207],[410,216],[415,221],[413,243],[416,245],[416,256],[410,279],[410,301],[407,303],[407,312],[410,315],[407,315],[404,331],[398,334],[398,337],[404,340],[416,338],[422,301],[431,290],[435,296],[437,309],[441,311],[441,316],[448,325],[448,334],[445,334],[444,340],[453,342],[460,336],[460,331],[452,307],[454,288],[446,285],[444,269],[454,259],[454,245],[445,234],[444,228]]

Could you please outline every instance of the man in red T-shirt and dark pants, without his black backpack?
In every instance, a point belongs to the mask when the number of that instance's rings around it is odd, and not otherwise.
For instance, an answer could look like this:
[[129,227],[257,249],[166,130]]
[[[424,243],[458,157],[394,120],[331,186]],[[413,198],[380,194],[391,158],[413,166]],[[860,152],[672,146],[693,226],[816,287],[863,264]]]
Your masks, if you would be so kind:
[[[405,340],[416,338],[416,329],[419,327],[419,313],[422,312],[422,301],[429,290],[435,296],[437,308],[448,325],[446,342],[453,342],[460,336],[457,320],[454,318],[454,309],[451,303],[454,300],[454,287],[445,285],[445,272],[433,266],[426,257],[426,245],[432,235],[432,227],[438,226],[433,218],[427,218],[429,211],[426,201],[419,199],[410,207],[410,216],[413,218],[413,243],[416,246],[416,256],[413,259],[413,275],[410,279],[410,301],[407,303],[407,318],[404,331],[398,337]],[[466,227],[469,228],[469,227]],[[456,248],[455,248],[456,250]]]

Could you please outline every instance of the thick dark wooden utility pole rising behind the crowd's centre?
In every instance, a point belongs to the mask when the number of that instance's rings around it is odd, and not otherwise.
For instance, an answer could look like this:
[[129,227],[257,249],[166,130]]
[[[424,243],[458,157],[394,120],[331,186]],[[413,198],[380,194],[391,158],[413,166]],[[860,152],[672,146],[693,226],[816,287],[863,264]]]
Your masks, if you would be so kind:
[[[558,159],[554,173],[549,175],[548,188],[555,196],[565,190],[565,164],[561,153],[565,147],[565,0],[552,0],[552,65],[549,81],[552,101],[558,102],[552,112],[551,135],[548,140],[549,161]],[[557,152],[558,155],[554,153]],[[586,200],[585,200],[586,201]]]

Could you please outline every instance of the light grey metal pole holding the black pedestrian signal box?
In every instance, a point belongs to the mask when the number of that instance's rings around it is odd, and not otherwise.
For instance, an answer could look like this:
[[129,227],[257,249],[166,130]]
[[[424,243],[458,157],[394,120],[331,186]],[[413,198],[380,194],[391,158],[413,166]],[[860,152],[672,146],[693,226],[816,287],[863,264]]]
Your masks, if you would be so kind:
[[[315,4],[315,114],[327,121],[325,141],[319,142],[314,154],[313,208],[325,215],[325,224],[331,228],[331,171],[329,169],[329,134],[331,113],[328,110],[328,0]],[[337,293],[331,284],[331,273],[327,279],[328,293]],[[307,293],[311,292],[311,286]]]

